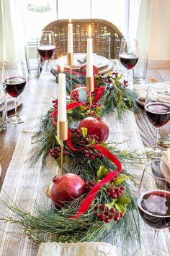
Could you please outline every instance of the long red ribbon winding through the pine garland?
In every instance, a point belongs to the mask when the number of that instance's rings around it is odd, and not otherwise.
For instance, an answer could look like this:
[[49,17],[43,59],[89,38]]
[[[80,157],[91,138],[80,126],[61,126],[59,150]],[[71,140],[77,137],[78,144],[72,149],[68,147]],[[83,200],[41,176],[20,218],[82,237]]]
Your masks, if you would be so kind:
[[[67,105],[67,109],[71,109],[71,108],[76,108],[77,106],[82,106],[84,103],[78,103],[78,102],[74,102],[71,104]],[[55,116],[58,114],[58,109],[56,109],[55,111],[53,111],[52,114],[52,120],[53,120],[53,124],[57,125],[57,122],[55,121]],[[122,165],[120,163],[120,161],[116,158],[115,155],[113,155],[112,153],[109,152],[109,150],[107,150],[106,148],[103,148],[100,145],[90,145],[87,146],[85,148],[74,148],[72,142],[71,142],[71,133],[70,130],[68,129],[68,139],[66,140],[69,148],[71,148],[71,150],[74,151],[78,151],[78,150],[84,150],[86,148],[96,148],[97,150],[102,150],[102,153],[109,158],[110,161],[112,161],[113,163],[115,163],[115,165],[117,166],[117,171],[110,171],[105,177],[104,179],[102,179],[101,182],[97,183],[88,193],[88,195],[86,195],[86,198],[84,199],[84,201],[82,202],[79,210],[77,211],[77,213],[74,216],[71,216],[71,218],[80,218],[84,213],[86,213],[86,211],[89,209],[91,202],[94,200],[94,197],[96,197],[97,192],[99,191],[100,187],[102,187],[104,184],[106,184],[107,182],[111,181],[118,173],[120,173],[120,171],[122,170]]]

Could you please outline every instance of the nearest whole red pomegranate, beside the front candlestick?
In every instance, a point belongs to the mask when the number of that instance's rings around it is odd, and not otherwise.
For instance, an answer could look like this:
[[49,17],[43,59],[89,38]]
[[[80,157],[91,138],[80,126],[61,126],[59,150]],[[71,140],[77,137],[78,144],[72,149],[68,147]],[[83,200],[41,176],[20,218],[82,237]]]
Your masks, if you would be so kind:
[[83,195],[84,185],[84,179],[81,179],[76,174],[55,176],[53,178],[53,185],[50,188],[50,198],[55,203],[56,208],[60,209],[68,202]]

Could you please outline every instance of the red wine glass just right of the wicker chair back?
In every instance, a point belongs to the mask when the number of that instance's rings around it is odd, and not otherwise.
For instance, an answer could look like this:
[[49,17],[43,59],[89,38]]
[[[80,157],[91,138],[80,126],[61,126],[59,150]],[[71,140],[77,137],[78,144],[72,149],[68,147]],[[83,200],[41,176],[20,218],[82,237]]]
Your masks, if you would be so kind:
[[120,43],[120,62],[128,71],[128,85],[129,85],[129,71],[135,67],[138,62],[138,40],[130,38],[122,38]]

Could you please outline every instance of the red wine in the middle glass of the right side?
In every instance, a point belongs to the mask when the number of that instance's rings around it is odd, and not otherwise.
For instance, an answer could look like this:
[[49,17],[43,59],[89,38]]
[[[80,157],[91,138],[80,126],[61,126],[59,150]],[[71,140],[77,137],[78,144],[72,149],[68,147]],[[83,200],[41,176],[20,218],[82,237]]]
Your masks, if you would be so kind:
[[152,102],[145,106],[148,121],[154,127],[162,127],[170,119],[170,104],[164,102]]

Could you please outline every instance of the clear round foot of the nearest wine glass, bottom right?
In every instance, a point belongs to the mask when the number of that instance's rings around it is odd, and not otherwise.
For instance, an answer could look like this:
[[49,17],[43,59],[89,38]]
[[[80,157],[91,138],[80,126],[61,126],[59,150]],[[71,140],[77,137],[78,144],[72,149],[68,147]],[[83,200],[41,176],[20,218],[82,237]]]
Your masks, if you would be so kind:
[[167,256],[169,255],[169,252],[159,247],[156,247],[154,252],[152,252],[152,249],[153,247],[151,246],[143,247],[143,249],[138,249],[133,256]]

